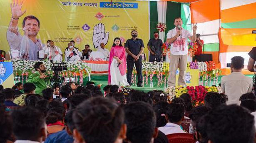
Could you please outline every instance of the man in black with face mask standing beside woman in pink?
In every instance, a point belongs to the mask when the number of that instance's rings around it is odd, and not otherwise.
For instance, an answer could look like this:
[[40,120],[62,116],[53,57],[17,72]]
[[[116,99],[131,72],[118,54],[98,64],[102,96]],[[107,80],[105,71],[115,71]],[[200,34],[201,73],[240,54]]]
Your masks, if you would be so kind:
[[132,70],[135,67],[138,75],[137,86],[142,87],[142,52],[144,44],[142,39],[137,38],[138,32],[132,31],[132,39],[128,39],[125,44],[125,51],[128,53],[127,56],[127,82],[132,85]]

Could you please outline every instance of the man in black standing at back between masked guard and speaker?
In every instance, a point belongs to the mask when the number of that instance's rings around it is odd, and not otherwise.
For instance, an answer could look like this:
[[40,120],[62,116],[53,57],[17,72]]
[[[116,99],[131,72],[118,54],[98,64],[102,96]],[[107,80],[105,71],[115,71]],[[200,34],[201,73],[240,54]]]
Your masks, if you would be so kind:
[[162,46],[163,42],[159,39],[159,34],[154,32],[154,38],[150,39],[147,48],[149,49],[149,62],[154,62],[156,59],[157,62],[161,62],[162,58]]

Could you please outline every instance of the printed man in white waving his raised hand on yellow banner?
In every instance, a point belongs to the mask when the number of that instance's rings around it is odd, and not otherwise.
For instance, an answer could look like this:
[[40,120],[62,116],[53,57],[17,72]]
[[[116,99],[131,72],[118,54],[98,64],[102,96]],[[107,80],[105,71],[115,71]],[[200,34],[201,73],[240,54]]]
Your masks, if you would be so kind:
[[44,46],[42,42],[36,38],[40,30],[40,21],[37,17],[29,15],[22,21],[22,30],[24,36],[20,35],[17,25],[20,17],[24,15],[22,11],[23,2],[18,3],[18,0],[13,0],[10,4],[12,10],[11,21],[7,30],[7,41],[11,49],[20,50],[21,58],[26,60],[37,60],[37,51],[42,50]]

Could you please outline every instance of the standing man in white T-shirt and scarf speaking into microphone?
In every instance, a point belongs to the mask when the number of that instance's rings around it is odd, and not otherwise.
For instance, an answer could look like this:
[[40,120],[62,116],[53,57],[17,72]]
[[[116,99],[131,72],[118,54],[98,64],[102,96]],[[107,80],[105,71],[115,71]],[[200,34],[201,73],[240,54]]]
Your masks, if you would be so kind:
[[167,33],[167,43],[171,44],[170,53],[170,71],[168,77],[168,87],[175,86],[176,70],[179,67],[178,85],[186,85],[185,73],[188,55],[188,38],[190,41],[196,41],[196,24],[193,24],[193,36],[189,31],[182,28],[181,17],[174,19],[175,28]]

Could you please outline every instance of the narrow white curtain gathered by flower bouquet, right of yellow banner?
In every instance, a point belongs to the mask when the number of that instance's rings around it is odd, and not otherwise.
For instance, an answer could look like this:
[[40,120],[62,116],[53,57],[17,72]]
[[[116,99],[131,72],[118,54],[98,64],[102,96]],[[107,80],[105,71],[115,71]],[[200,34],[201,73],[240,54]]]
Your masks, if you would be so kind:
[[[166,10],[167,10],[167,1],[157,1],[157,16],[158,22],[166,24]],[[164,42],[165,32],[159,32],[159,39]]]

